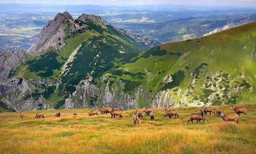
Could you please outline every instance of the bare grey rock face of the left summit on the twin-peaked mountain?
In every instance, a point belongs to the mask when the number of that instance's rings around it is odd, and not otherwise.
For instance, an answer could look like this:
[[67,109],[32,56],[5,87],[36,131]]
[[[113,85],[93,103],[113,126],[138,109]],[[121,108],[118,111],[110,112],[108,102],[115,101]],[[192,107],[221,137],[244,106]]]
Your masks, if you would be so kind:
[[[69,23],[68,23],[69,22]],[[65,11],[58,13],[53,20],[49,21],[39,33],[36,42],[27,51],[28,54],[47,50],[49,47],[55,49],[64,46],[63,38],[65,31],[74,32],[80,29],[80,26],[74,21],[73,17]]]

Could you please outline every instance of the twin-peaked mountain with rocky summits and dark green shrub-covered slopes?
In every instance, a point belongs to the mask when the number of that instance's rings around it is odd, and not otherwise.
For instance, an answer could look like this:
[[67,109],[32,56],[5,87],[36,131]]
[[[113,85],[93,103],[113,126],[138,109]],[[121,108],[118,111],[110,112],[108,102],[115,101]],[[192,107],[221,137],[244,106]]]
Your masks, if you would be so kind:
[[[83,14],[73,20],[69,13],[59,13],[22,54],[22,62],[10,67],[8,77],[1,75],[1,100],[15,110],[64,108],[81,80],[92,78],[96,84],[104,73],[158,44],[111,26],[99,16]],[[1,63],[3,70],[7,60]]]

